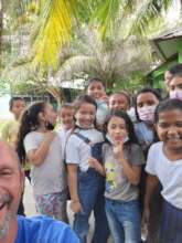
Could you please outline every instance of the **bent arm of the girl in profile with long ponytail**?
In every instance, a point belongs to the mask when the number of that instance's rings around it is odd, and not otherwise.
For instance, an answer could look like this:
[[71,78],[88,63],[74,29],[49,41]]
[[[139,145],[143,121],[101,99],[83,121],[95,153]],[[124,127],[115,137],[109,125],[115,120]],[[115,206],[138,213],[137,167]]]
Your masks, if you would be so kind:
[[52,140],[54,139],[54,137],[55,137],[54,131],[47,131],[45,134],[44,140],[41,142],[39,148],[28,151],[26,157],[29,161],[32,162],[34,166],[40,166],[46,158],[46,155],[50,149],[50,145]]

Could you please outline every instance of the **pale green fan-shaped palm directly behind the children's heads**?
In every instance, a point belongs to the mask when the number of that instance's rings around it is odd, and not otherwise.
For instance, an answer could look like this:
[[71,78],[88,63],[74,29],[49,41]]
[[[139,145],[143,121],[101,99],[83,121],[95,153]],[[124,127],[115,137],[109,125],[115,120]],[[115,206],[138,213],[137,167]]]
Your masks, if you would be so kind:
[[[147,73],[152,63],[151,50],[144,39],[131,36],[128,40],[115,33],[115,38],[101,41],[97,31],[84,29],[69,46],[69,56],[64,59],[55,73],[57,84],[87,74],[105,81],[107,88],[132,72]],[[62,60],[62,59],[61,59]]]

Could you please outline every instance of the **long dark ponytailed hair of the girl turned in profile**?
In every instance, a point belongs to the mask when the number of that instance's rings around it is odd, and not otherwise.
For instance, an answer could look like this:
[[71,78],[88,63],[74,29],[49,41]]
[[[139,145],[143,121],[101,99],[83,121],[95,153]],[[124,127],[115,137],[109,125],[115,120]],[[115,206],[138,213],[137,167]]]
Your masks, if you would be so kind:
[[35,102],[22,114],[18,133],[17,152],[21,163],[25,162],[24,137],[32,130],[36,130],[40,123],[38,115],[44,112],[46,102]]

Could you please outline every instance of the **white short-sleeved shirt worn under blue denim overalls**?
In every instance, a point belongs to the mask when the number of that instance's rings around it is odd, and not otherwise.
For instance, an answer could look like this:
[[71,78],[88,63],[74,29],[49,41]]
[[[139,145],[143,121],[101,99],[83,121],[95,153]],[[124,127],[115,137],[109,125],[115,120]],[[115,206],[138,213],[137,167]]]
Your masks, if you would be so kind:
[[[74,133],[79,133],[90,140],[92,144],[104,141],[103,134],[95,128],[76,129]],[[75,163],[79,169],[86,172],[89,168],[88,159],[90,155],[90,145],[83,139],[72,134],[66,142],[66,163]]]

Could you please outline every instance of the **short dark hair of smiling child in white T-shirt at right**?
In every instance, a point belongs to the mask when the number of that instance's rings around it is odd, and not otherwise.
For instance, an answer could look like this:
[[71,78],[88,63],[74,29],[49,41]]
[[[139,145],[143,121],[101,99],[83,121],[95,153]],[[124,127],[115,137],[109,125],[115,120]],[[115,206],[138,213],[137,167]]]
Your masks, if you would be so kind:
[[180,109],[182,112],[182,102],[180,99],[172,98],[159,103],[154,112],[154,123],[157,124],[159,122],[160,113],[173,110],[173,109]]

